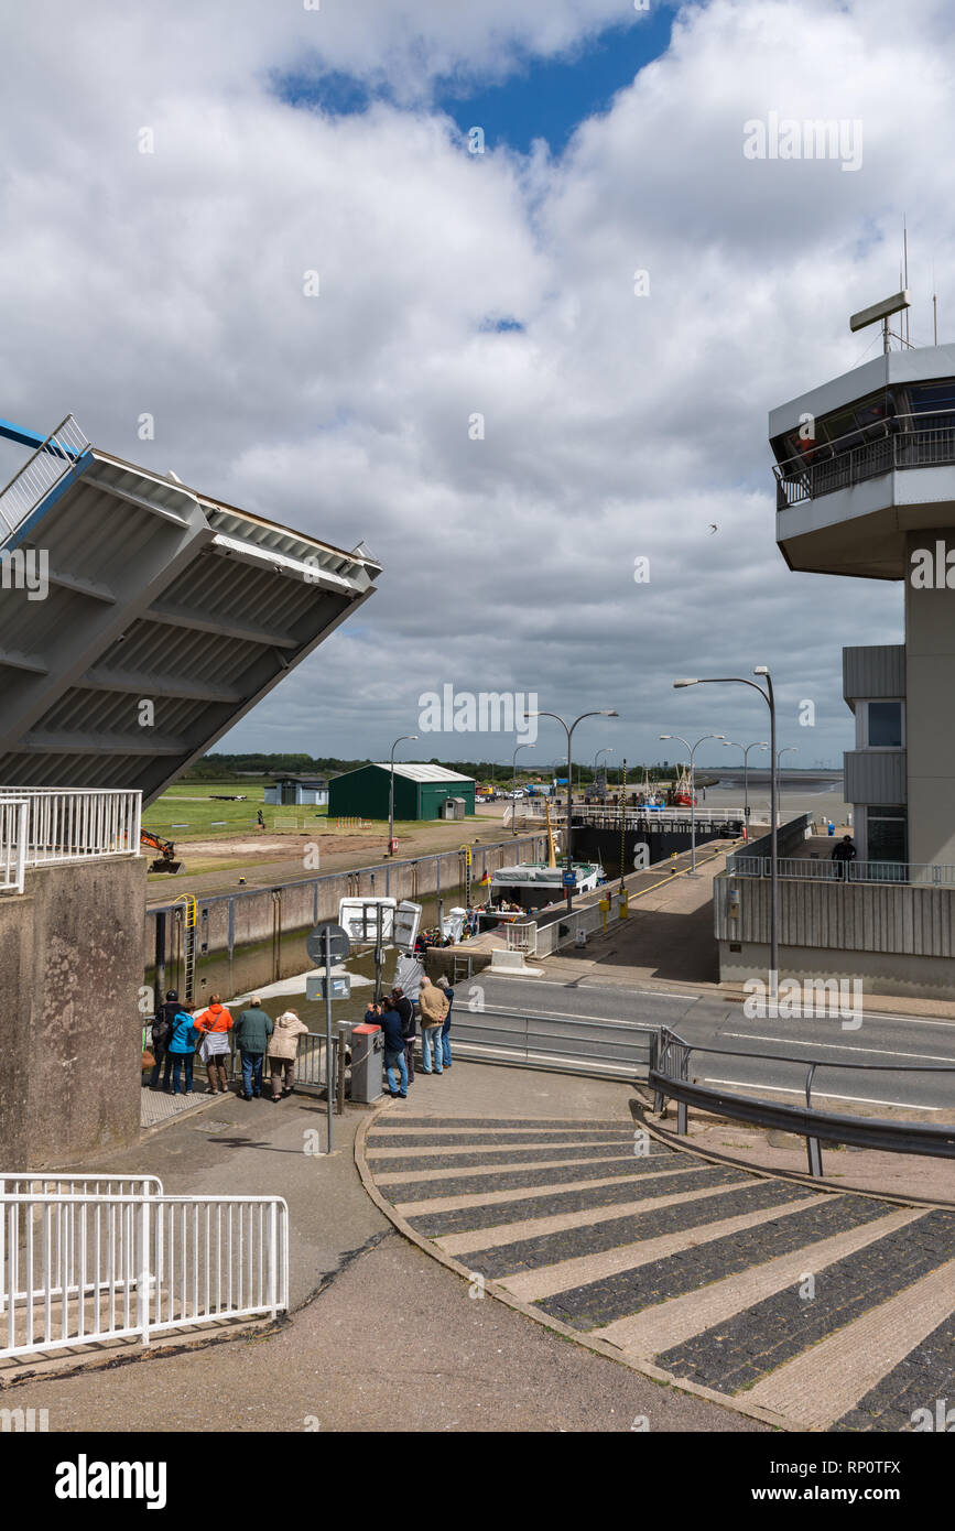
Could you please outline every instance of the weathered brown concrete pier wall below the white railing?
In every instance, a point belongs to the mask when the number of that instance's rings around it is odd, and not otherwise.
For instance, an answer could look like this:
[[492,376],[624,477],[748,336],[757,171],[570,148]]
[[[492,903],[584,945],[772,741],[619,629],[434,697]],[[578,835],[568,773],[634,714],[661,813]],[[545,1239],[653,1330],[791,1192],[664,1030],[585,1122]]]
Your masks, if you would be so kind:
[[139,1136],[144,857],[0,897],[0,1165],[69,1170]]

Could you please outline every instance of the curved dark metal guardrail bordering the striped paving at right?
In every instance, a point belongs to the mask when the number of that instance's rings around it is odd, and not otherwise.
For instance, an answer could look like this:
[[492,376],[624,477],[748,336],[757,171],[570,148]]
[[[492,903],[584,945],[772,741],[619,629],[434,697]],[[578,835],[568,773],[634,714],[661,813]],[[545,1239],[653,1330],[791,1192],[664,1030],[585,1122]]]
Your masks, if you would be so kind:
[[[791,1063],[807,1070],[805,1108],[785,1105],[744,1095],[732,1095],[721,1089],[696,1084],[690,1079],[690,1056],[695,1052],[719,1058],[758,1058],[762,1063]],[[822,1141],[848,1144],[852,1148],[882,1148],[889,1153],[924,1154],[927,1157],[955,1159],[955,1124],[937,1127],[932,1122],[906,1122],[888,1118],[842,1116],[820,1112],[813,1105],[813,1081],[817,1069],[856,1069],[871,1073],[944,1073],[955,1075],[955,1064],[872,1064],[833,1063],[820,1058],[794,1058],[785,1053],[736,1052],[728,1047],[709,1047],[687,1043],[676,1032],[661,1027],[658,1050],[649,1072],[655,1090],[655,1110],[661,1112],[667,1099],[675,1099],[676,1133],[687,1133],[687,1107],[696,1105],[730,1121],[755,1122],[779,1131],[796,1133],[807,1141],[810,1174],[819,1177],[822,1170]],[[773,1085],[765,1085],[771,1090]]]

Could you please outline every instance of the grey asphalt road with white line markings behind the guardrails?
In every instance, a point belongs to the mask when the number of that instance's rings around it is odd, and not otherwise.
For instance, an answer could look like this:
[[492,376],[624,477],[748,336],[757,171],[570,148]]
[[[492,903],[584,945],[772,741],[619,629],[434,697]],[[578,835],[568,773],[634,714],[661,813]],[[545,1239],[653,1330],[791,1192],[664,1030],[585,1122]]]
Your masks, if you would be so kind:
[[[856,1026],[856,1017],[814,1017],[782,1020],[748,1017],[741,1003],[693,992],[600,984],[598,978],[568,981],[551,978],[504,978],[481,975],[488,1010],[520,1015],[574,1017],[605,1021],[631,1021],[638,1026],[669,1026],[689,1043],[725,1049],[730,1053],[764,1053],[765,1058],[721,1056],[706,1050],[693,1055],[693,1078],[724,1087],[756,1089],[770,1085],[805,1098],[807,1070],[796,1059],[819,1061],[813,1099],[833,1102],[831,1108],[860,1105],[901,1105],[938,1113],[938,1121],[955,1118],[955,1072],[908,1072],[949,1066],[955,1070],[955,1021],[921,1017],[869,1014]],[[834,1064],[865,1064],[843,1069]],[[878,1072],[868,1072],[868,1070]]]

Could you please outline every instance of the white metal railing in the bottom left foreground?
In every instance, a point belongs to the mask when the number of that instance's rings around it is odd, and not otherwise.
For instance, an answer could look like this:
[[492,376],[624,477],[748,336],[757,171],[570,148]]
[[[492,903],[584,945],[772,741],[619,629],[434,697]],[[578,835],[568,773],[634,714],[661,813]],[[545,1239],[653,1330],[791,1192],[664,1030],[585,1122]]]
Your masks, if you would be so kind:
[[[69,1190],[35,1190],[51,1183]],[[279,1196],[164,1196],[155,1176],[0,1187],[0,1358],[288,1309]]]

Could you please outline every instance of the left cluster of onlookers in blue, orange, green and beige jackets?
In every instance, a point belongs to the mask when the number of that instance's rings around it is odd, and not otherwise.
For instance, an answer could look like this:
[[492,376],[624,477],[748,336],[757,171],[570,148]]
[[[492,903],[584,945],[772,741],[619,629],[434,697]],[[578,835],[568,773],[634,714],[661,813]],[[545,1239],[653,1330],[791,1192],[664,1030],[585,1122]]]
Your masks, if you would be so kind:
[[272,1021],[259,995],[233,1020],[220,994],[213,994],[207,1009],[190,1010],[170,989],[153,1021],[148,1087],[167,1095],[193,1095],[193,1069],[199,1058],[208,1073],[205,1093],[228,1095],[234,1047],[242,1061],[242,1098],[251,1101],[263,1093],[268,1059],[271,1099],[283,1101],[295,1084],[298,1038],[306,1030],[295,1010],[283,1010]]

